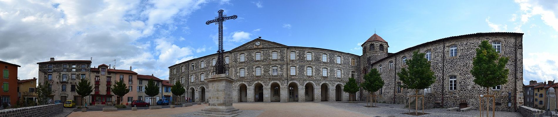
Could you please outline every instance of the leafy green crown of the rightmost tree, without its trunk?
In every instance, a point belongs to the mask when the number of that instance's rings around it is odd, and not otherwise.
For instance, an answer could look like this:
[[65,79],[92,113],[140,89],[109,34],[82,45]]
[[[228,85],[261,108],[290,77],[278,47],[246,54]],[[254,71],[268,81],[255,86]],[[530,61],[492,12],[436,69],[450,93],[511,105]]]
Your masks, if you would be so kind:
[[470,71],[475,77],[473,82],[487,88],[487,94],[488,88],[506,84],[509,74],[507,63],[507,57],[500,57],[488,40],[483,40],[477,48],[477,56],[473,58],[473,69]]

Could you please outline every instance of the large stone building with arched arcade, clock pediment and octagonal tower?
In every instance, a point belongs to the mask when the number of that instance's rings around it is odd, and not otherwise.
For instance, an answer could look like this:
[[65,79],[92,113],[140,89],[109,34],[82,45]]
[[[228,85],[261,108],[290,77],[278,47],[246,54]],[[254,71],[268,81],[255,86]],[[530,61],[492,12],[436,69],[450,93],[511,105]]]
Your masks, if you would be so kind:
[[[397,73],[406,67],[412,52],[427,53],[435,72],[436,82],[426,93],[427,108],[478,107],[484,88],[473,83],[472,69],[475,48],[482,40],[508,57],[508,83],[490,90],[496,94],[497,110],[515,110],[523,104],[522,33],[475,33],[433,40],[397,53],[388,53],[388,42],[373,34],[362,44],[363,54],[355,55],[330,49],[287,46],[261,38],[254,39],[224,52],[233,84],[233,101],[346,101],[343,92],[348,78],[362,82],[371,68],[378,68],[385,84],[376,92],[384,103],[404,104],[414,91],[397,87]],[[169,67],[171,84],[180,80],[186,86],[186,98],[205,101],[205,78],[214,74],[217,54],[187,60]],[[368,95],[359,91],[356,98]],[[183,97],[184,97],[183,96]],[[508,106],[509,105],[511,106]]]

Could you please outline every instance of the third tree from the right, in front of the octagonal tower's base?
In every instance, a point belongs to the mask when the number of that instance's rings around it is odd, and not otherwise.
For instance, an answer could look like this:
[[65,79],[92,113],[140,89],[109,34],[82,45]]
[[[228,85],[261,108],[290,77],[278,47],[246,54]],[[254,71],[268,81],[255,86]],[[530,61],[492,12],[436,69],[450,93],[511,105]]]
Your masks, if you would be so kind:
[[[384,82],[380,75],[381,74],[378,72],[378,69],[372,68],[368,74],[364,74],[364,82],[362,82],[360,86],[362,87],[362,89],[368,91],[369,94],[378,91],[384,85]],[[371,103],[370,106],[373,106],[373,101],[371,99],[368,99],[368,101]]]

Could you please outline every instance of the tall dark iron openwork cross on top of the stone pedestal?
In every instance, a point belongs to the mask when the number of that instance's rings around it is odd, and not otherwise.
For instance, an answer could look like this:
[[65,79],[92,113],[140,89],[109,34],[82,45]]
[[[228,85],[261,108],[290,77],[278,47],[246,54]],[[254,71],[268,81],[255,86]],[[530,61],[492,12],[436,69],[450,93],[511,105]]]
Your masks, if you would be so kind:
[[223,22],[227,19],[237,19],[237,15],[227,17],[227,15],[223,15],[223,12],[223,9],[220,9],[217,12],[219,13],[219,16],[215,17],[215,19],[211,21],[205,22],[205,24],[208,25],[211,23],[219,24],[219,50],[217,50],[219,56],[217,57],[217,63],[214,67],[215,74],[225,74],[228,70],[228,66],[225,64],[225,60],[223,59],[223,52],[225,52],[225,50],[223,50]]

